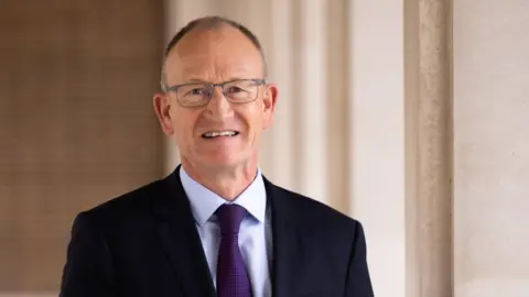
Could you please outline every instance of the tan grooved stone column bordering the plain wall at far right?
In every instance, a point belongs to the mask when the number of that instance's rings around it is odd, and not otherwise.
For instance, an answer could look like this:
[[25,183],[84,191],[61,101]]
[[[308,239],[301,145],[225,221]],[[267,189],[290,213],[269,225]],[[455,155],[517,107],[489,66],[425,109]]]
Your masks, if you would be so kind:
[[450,13],[444,0],[404,6],[407,296],[452,296]]

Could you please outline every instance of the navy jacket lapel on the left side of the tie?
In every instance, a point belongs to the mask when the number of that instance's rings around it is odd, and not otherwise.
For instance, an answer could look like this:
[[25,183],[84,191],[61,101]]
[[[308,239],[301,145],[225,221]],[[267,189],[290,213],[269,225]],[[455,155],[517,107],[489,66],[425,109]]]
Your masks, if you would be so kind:
[[153,197],[152,209],[160,219],[158,233],[185,296],[214,297],[212,276],[179,169],[165,178],[164,194]]

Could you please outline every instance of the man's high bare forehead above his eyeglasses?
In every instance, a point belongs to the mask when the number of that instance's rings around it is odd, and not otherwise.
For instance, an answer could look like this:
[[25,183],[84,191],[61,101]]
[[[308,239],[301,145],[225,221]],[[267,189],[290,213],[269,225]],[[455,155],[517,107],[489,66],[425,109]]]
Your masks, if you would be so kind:
[[263,63],[259,50],[237,29],[224,26],[187,33],[169,53],[169,82],[188,79],[222,81],[259,78]]

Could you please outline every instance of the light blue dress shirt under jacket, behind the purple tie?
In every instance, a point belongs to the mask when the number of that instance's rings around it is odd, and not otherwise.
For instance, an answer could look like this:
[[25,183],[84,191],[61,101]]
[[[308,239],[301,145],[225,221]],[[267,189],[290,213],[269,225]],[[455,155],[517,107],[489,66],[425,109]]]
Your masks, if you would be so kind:
[[223,204],[236,204],[248,211],[240,223],[239,249],[249,274],[253,297],[270,297],[272,235],[267,191],[260,169],[248,188],[230,202],[198,184],[183,167],[180,167],[180,178],[191,202],[214,286],[216,287],[217,255],[220,245],[220,229],[215,211]]

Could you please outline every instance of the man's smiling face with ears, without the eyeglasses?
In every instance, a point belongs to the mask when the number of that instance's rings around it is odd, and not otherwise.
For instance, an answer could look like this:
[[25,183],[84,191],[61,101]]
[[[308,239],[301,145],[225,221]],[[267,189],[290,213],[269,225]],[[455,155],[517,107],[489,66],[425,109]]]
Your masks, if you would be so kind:
[[[263,78],[259,51],[238,30],[225,26],[192,31],[172,48],[165,63],[168,86]],[[174,91],[154,96],[162,129],[177,144],[182,162],[192,166],[233,167],[257,162],[261,133],[272,123],[277,89],[258,87],[258,98],[231,103],[216,87],[204,107],[182,107]],[[236,135],[210,136],[210,132]],[[209,136],[208,136],[209,135]]]

